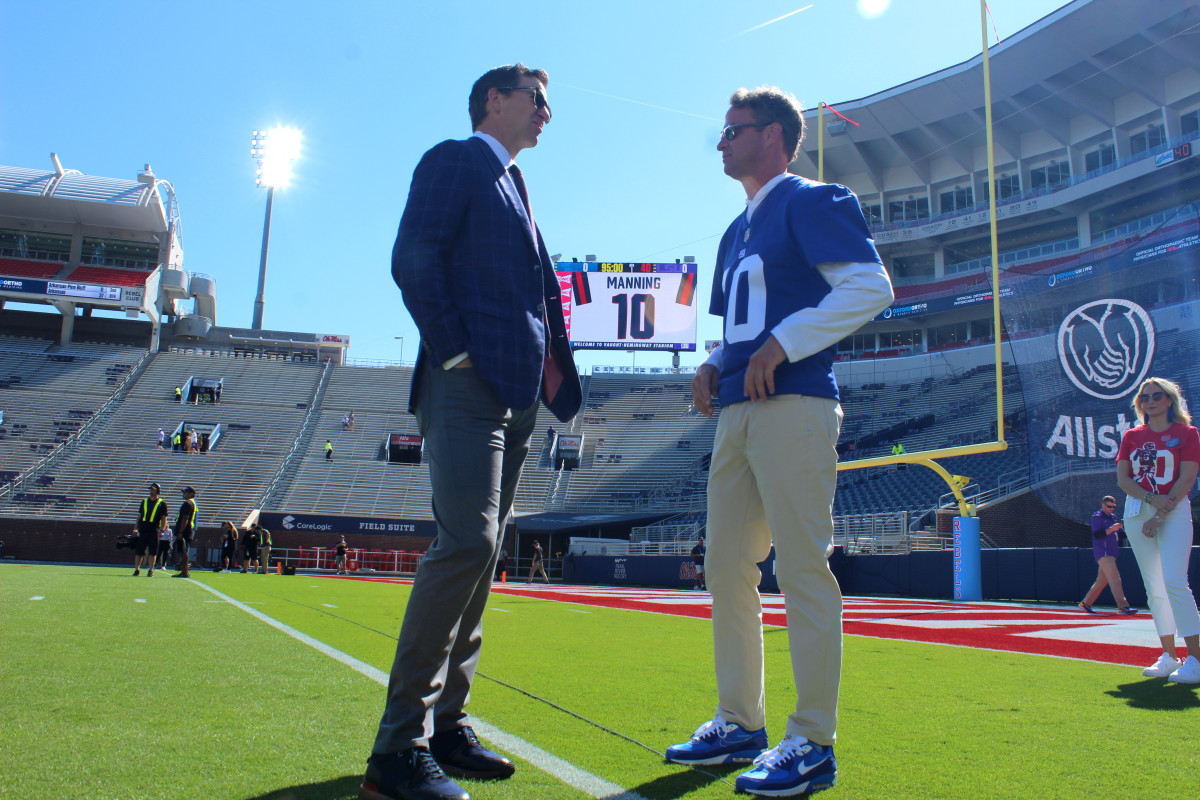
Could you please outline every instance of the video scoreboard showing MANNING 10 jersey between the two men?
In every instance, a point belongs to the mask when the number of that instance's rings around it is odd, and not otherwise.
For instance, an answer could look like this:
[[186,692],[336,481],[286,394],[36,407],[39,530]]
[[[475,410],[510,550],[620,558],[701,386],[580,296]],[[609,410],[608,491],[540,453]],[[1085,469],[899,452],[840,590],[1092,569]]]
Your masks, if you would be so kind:
[[577,350],[696,350],[696,265],[559,261]]

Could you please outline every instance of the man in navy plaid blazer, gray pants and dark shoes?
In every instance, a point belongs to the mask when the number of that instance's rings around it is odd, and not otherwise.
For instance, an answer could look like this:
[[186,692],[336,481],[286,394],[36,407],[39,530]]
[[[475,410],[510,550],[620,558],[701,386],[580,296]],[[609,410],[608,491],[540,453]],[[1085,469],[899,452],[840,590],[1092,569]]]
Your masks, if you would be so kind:
[[474,136],[413,173],[391,272],[421,333],[409,410],[430,455],[438,535],[404,612],[364,800],[464,800],[451,777],[504,778],[463,710],[482,613],[538,402],[582,403],[558,278],[512,158],[550,122],[547,76],[497,67],[472,88]]

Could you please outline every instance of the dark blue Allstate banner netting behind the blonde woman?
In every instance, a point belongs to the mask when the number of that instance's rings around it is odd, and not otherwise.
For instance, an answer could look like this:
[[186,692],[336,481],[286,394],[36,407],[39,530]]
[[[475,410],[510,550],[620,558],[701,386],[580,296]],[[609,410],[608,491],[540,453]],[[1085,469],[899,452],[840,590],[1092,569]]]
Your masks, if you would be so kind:
[[[1025,395],[1030,468],[1039,497],[1086,522],[1097,483],[1080,495],[1056,476],[1100,473],[1116,493],[1121,437],[1139,425],[1132,408],[1141,383],[1178,383],[1200,398],[1200,225],[1192,206],[1106,258],[1054,275],[1028,276],[1002,305],[1006,319],[1050,323],[1052,332],[1016,341]],[[1037,284],[1037,290],[1032,285]],[[1094,497],[1093,497],[1094,495]]]

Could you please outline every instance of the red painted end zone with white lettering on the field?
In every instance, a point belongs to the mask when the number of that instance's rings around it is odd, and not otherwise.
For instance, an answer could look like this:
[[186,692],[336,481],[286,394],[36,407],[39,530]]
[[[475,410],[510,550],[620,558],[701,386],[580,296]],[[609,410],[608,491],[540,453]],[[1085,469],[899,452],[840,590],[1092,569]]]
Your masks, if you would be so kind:
[[[707,591],[523,583],[497,583],[492,591],[676,616],[710,619],[713,614],[712,596]],[[762,595],[762,604],[763,621],[767,625],[787,626],[782,595]],[[1135,667],[1153,662],[1160,652],[1154,622],[1145,610],[1135,616],[1120,616],[1116,613],[1091,615],[1062,606],[846,597],[842,620],[842,630],[851,636],[1085,658]]]

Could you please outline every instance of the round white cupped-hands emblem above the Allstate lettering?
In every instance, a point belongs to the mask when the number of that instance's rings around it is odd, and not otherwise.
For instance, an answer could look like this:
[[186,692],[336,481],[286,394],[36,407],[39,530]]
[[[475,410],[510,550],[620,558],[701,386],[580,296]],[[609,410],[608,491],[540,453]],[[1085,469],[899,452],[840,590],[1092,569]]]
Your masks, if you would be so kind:
[[1134,391],[1154,357],[1154,324],[1129,300],[1093,300],[1058,326],[1058,362],[1070,383],[1099,399]]

